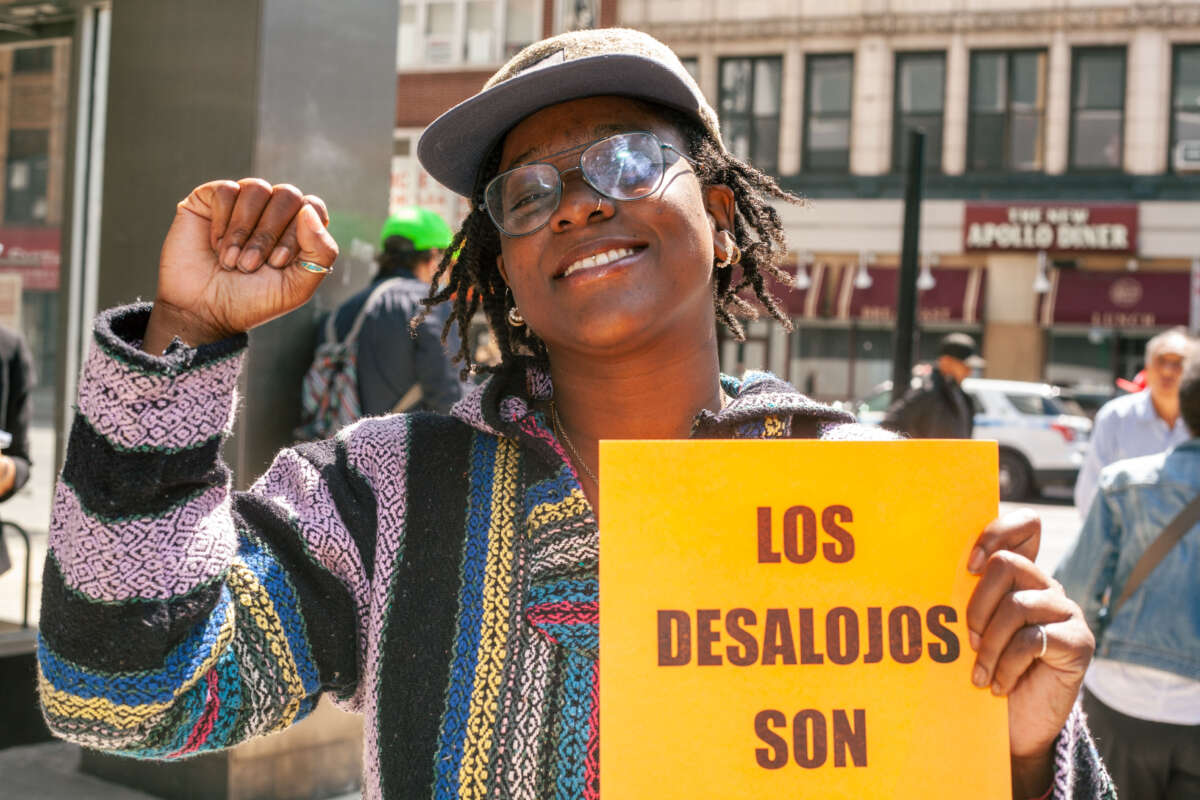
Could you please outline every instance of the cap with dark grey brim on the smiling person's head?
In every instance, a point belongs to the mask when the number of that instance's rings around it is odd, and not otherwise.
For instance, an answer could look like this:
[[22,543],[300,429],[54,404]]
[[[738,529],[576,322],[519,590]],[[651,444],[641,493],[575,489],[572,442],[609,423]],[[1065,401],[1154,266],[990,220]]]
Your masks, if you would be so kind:
[[534,112],[581,97],[619,95],[682,112],[724,149],[716,112],[671,48],[624,28],[581,30],[534,42],[484,89],[433,121],[416,155],[426,172],[469,197],[492,146]]

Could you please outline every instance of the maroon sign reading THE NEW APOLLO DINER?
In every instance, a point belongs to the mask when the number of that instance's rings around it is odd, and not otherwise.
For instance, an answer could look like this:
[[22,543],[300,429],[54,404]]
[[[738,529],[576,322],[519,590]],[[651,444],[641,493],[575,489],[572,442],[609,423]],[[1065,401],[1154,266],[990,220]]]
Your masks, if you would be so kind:
[[967,203],[968,251],[1136,253],[1135,204]]

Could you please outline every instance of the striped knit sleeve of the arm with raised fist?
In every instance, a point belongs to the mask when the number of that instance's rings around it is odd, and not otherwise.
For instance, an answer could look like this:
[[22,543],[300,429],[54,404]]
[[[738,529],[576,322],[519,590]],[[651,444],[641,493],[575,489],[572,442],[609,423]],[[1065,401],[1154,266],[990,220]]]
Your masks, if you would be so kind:
[[38,686],[56,735],[175,758],[283,729],[324,691],[356,705],[373,506],[350,524],[340,511],[337,443],[284,450],[232,492],[220,451],[246,337],[150,356],[149,308],[96,323],[55,488]]

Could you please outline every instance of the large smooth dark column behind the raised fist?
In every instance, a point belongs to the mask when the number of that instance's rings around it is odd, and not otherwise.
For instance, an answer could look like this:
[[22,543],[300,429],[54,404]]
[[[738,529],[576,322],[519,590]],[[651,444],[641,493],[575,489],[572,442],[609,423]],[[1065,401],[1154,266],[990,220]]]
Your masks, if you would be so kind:
[[[240,486],[289,443],[317,308],[368,278],[388,211],[397,14],[373,0],[113,0],[100,307],[154,297],[175,203],[215,178],[320,194],[342,248],[308,307],[251,333],[226,452]],[[83,768],[163,798],[324,798],[356,787],[361,736],[358,716],[323,703],[232,751],[169,764],[89,752]]]

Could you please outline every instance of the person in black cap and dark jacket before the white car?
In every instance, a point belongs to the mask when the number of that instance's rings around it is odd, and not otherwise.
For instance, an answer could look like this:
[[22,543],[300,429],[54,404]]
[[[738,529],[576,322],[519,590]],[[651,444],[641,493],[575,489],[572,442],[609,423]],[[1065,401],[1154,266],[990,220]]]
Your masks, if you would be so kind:
[[893,401],[883,427],[913,439],[970,439],[974,405],[962,391],[962,381],[983,366],[973,338],[966,333],[944,336],[929,374]]

